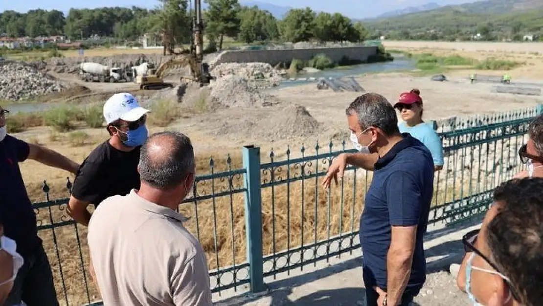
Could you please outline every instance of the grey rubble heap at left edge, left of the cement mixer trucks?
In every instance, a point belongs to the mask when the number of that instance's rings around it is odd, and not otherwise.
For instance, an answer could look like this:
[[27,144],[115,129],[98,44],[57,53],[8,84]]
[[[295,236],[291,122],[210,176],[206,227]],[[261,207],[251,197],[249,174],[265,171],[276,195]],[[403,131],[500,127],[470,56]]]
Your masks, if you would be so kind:
[[33,65],[11,62],[0,65],[0,97],[20,101],[64,90],[59,82]]

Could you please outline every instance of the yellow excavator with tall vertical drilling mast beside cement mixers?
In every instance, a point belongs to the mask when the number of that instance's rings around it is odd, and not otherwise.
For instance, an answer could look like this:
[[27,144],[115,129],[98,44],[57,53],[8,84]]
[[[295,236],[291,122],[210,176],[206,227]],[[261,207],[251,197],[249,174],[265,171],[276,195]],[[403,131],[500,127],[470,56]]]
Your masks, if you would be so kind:
[[213,79],[209,73],[209,65],[204,63],[204,36],[203,21],[201,14],[201,0],[194,0],[195,16],[192,21],[192,39],[191,49],[188,54],[180,54],[176,57],[162,63],[158,68],[151,68],[148,73],[136,76],[135,82],[140,85],[140,89],[156,90],[163,88],[172,88],[171,83],[165,83],[162,79],[163,74],[171,68],[189,66],[191,76],[181,77],[181,83],[195,82],[200,86],[210,83]]

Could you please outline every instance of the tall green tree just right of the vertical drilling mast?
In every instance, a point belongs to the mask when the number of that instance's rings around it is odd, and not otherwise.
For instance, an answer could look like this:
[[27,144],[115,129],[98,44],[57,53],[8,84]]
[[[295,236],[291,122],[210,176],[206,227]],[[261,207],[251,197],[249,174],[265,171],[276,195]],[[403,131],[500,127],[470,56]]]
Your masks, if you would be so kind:
[[241,9],[238,0],[204,0],[207,9],[206,32],[219,39],[219,49],[223,48],[224,36],[236,37],[241,21],[238,13]]

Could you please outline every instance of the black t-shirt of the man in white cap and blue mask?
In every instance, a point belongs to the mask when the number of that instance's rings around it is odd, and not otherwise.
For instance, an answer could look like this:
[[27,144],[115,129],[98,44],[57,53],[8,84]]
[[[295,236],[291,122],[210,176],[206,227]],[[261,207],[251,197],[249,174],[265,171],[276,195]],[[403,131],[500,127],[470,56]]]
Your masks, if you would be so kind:
[[72,195],[97,207],[110,196],[124,196],[132,189],[140,189],[140,148],[124,152],[111,146],[109,140],[103,142],[79,166]]

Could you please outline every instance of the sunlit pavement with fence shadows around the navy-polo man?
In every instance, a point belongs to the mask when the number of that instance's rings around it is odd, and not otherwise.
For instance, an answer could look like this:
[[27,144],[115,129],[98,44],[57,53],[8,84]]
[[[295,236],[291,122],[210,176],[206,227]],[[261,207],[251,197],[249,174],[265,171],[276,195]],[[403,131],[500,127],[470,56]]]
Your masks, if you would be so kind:
[[[462,235],[478,227],[470,226],[454,232],[441,231],[430,235],[425,242],[428,276],[424,288],[413,305],[470,306],[468,297],[456,286],[449,273],[451,263],[460,263],[463,257]],[[304,272],[293,271],[291,277],[278,276],[265,279],[269,292],[260,295],[243,295],[218,301],[218,306],[331,306],[362,305],[361,252],[342,259],[333,258],[329,263],[319,263],[316,268],[305,267]],[[239,294],[239,293],[238,293]],[[215,300],[217,301],[217,297]]]

